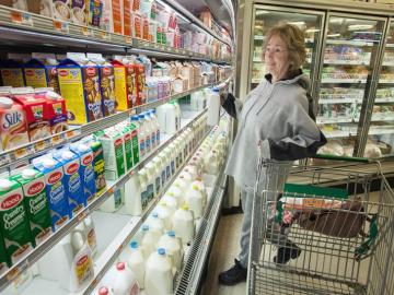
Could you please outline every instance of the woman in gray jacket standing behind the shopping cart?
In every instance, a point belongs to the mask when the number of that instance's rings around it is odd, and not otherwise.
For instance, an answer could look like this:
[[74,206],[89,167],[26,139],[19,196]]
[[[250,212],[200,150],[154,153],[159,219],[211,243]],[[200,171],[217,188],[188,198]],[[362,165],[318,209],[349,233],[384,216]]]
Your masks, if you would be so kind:
[[[241,102],[229,94],[223,108],[239,120],[239,131],[225,168],[241,187],[244,211],[241,232],[241,252],[235,264],[219,275],[219,282],[233,285],[245,281],[251,235],[251,216],[254,187],[257,181],[257,163],[262,158],[287,161],[273,175],[260,173],[258,186],[268,190],[282,190],[287,170],[292,161],[312,156],[326,143],[315,123],[314,104],[309,94],[310,80],[302,74],[305,61],[304,35],[294,25],[270,28],[264,45],[264,59],[268,74]],[[285,168],[283,168],[285,167]],[[274,196],[268,196],[273,199]],[[268,222],[268,226],[271,223]],[[267,231],[270,232],[270,231]],[[273,233],[273,232],[271,232]],[[275,232],[267,239],[278,246],[276,263],[287,263],[300,256],[301,249],[282,234]]]

